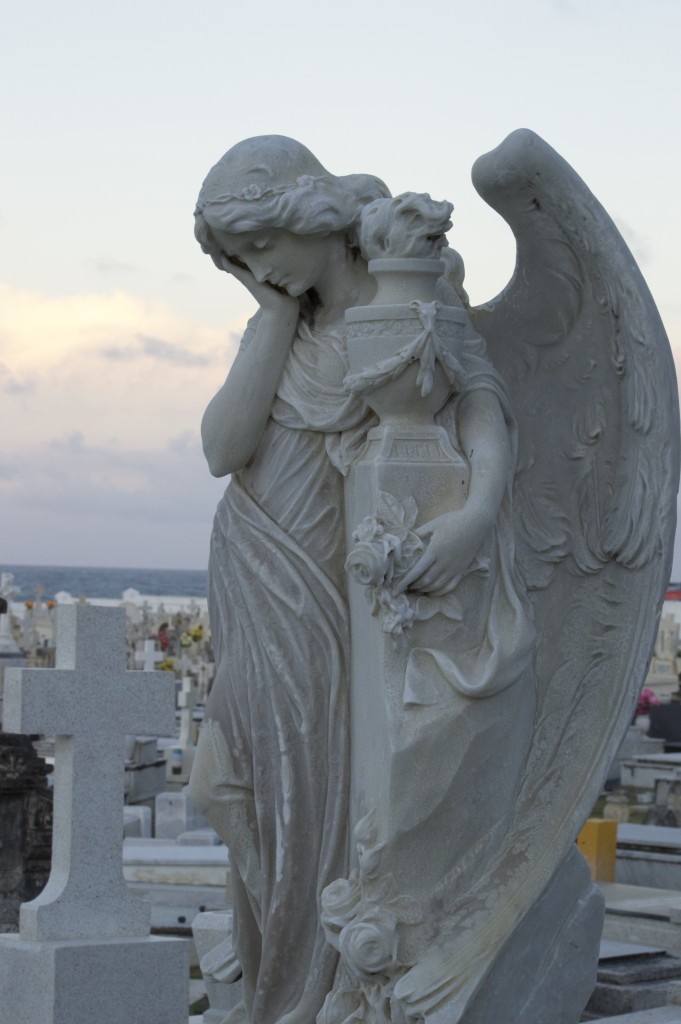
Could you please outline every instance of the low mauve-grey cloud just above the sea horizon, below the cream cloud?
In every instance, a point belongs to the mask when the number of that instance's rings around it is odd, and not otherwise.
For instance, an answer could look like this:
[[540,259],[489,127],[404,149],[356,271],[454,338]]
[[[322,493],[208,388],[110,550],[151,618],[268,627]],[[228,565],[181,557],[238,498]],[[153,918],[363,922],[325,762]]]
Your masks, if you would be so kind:
[[224,480],[198,433],[161,447],[107,446],[75,432],[0,463],[0,563],[203,567]]

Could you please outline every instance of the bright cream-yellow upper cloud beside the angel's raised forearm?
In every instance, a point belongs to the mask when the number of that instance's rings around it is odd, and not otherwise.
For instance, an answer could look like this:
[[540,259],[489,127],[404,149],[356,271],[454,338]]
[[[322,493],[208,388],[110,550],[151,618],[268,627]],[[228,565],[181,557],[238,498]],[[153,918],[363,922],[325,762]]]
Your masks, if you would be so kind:
[[0,435],[39,445],[84,434],[141,451],[194,430],[237,351],[224,330],[125,292],[47,296],[0,285]]

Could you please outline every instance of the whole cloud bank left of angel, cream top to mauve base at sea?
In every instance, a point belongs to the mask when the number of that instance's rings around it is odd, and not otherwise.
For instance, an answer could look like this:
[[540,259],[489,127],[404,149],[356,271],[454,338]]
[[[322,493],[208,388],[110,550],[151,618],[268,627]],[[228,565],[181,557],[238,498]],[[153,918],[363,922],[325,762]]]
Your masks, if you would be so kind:
[[205,565],[224,481],[199,424],[238,319],[218,330],[124,292],[4,285],[0,307],[0,392],[13,394],[0,394],[0,560]]

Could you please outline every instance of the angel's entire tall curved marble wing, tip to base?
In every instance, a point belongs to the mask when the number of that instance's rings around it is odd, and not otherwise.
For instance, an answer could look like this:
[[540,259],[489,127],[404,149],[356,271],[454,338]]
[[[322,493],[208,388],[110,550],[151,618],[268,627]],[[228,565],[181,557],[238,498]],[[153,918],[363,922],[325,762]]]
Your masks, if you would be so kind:
[[[470,310],[518,423],[516,559],[538,630],[535,738],[512,827],[450,941],[399,983],[452,1024],[563,860],[645,677],[676,519],[676,376],[627,246],[574,171],[517,131],[473,181],[516,238],[508,287]],[[454,1014],[454,1015],[453,1015]]]

